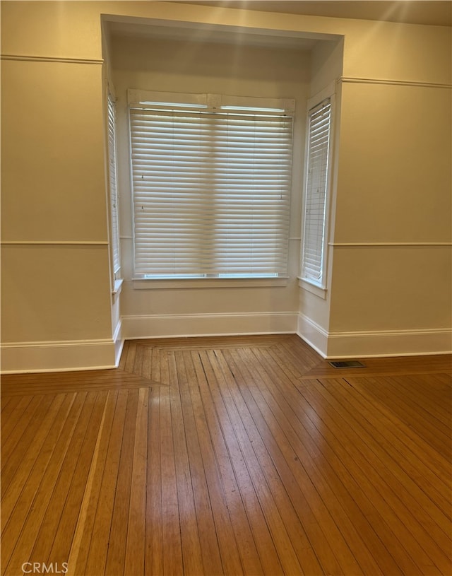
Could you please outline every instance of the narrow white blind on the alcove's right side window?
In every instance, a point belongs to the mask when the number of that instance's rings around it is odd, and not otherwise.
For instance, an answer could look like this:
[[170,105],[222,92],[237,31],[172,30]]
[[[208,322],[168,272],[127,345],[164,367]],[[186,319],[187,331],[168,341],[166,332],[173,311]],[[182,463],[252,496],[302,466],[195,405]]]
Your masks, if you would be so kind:
[[330,127],[331,100],[327,98],[309,111],[302,244],[302,278],[318,286],[323,284]]

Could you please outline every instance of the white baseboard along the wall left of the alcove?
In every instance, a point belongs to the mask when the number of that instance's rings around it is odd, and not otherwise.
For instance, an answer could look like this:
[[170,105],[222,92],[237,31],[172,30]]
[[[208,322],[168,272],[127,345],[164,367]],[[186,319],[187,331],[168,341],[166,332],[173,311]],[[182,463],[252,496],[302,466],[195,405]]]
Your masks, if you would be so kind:
[[115,368],[112,339],[13,342],[1,345],[1,373]]

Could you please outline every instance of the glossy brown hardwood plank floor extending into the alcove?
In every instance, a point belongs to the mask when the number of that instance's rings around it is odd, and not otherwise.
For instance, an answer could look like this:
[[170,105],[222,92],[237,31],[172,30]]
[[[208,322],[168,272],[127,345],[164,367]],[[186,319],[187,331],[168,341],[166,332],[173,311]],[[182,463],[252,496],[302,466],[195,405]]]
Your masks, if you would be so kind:
[[1,573],[450,576],[451,357],[364,363],[240,336],[4,376]]

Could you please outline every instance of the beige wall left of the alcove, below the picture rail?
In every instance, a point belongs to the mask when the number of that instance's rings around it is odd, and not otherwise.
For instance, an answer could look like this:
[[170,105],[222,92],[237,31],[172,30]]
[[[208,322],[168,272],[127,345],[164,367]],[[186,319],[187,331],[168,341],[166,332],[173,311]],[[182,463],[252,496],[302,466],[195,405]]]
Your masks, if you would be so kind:
[[110,365],[102,66],[36,59],[60,55],[38,44],[26,59],[12,50],[4,45],[11,59],[1,66],[6,368],[11,346],[24,342],[102,342],[100,364]]

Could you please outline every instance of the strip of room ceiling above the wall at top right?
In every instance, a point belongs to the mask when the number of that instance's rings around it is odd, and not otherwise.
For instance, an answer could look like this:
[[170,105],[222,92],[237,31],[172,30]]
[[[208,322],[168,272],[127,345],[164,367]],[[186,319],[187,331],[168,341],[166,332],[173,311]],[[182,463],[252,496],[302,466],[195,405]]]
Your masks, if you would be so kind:
[[[168,1],[168,0],[166,0]],[[437,26],[452,25],[452,1],[450,0],[169,0],[201,4],[203,6],[221,6],[242,8],[263,12],[304,14],[307,16],[331,16],[333,18],[357,18],[361,20],[386,20],[410,24],[428,24]]]

